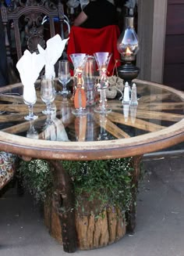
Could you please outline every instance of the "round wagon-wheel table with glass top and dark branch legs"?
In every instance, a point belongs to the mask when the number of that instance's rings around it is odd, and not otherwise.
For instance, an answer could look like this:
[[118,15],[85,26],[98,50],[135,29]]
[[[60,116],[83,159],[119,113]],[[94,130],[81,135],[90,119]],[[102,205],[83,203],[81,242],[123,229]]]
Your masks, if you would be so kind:
[[[57,81],[55,81],[56,83]],[[15,93],[21,84],[0,88],[0,147],[24,160],[48,160],[55,168],[53,178],[57,205],[73,205],[74,195],[69,175],[60,160],[107,160],[133,157],[133,182],[137,184],[139,165],[144,153],[165,149],[184,141],[184,92],[148,81],[135,80],[140,95],[138,106],[122,105],[109,99],[109,114],[97,114],[94,106],[88,114],[74,116],[73,101],[57,95],[53,113],[44,115],[45,104],[37,81],[35,121],[26,121],[27,106]],[[14,92],[14,93],[13,93]],[[136,191],[134,202],[136,198]],[[62,198],[62,202],[61,202]],[[135,204],[130,212],[130,229],[135,227]],[[75,215],[60,216],[63,247],[76,251]]]

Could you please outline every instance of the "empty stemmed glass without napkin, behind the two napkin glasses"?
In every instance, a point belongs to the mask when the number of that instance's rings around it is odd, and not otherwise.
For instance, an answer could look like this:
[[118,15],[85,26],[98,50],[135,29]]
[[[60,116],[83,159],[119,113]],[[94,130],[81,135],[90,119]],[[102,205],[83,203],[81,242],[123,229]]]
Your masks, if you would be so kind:
[[71,75],[69,72],[69,61],[60,60],[58,62],[58,81],[62,84],[62,92],[59,92],[62,95],[69,95],[70,92],[67,90],[66,85],[69,83]]

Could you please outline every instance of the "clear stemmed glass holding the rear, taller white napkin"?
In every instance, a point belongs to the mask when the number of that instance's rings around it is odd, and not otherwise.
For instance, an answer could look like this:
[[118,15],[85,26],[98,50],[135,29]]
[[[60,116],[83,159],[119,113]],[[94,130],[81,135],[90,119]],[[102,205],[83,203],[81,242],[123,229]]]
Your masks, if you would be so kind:
[[51,114],[54,110],[51,109],[51,103],[55,100],[55,84],[52,78],[41,79],[41,99],[46,104],[46,110],[43,110],[43,114]]

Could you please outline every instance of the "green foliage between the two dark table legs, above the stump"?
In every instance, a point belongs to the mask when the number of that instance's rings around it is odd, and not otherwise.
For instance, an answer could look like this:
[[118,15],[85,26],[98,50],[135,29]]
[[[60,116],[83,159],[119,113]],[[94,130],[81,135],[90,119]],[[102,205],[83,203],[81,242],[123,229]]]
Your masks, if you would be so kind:
[[100,201],[98,212],[108,206],[129,208],[133,170],[130,158],[64,161],[63,166],[73,179],[78,207],[86,195],[90,201]]

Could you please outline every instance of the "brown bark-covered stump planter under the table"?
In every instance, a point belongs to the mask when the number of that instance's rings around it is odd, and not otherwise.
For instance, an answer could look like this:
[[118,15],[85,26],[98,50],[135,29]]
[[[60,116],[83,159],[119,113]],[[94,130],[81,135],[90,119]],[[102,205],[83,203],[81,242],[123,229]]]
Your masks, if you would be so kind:
[[[119,209],[108,208],[95,218],[93,214],[75,213],[77,247],[79,250],[90,250],[115,243],[126,234],[125,214]],[[62,225],[51,200],[44,206],[44,222],[51,236],[62,243]]]

